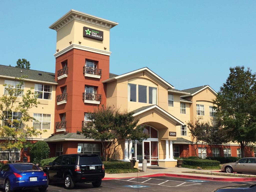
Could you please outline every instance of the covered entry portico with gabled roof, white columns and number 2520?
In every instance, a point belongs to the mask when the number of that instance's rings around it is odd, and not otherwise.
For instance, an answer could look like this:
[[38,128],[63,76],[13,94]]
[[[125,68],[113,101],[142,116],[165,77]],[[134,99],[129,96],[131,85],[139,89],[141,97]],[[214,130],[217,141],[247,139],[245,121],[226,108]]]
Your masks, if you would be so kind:
[[173,141],[176,140],[176,134],[170,136],[169,132],[176,133],[176,125],[184,123],[157,105],[139,108],[134,112],[134,116],[140,118],[139,123],[146,124],[143,132],[149,137],[143,142],[125,141],[123,160],[134,158],[140,165],[146,159],[148,166],[175,167],[177,160],[173,158]]

